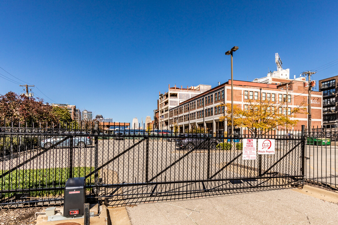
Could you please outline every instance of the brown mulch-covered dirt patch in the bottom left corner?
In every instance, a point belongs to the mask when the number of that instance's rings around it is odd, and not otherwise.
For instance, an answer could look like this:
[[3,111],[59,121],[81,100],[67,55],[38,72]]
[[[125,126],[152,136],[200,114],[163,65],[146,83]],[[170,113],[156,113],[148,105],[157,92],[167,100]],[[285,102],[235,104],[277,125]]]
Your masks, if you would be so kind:
[[0,225],[31,225],[35,224],[35,213],[46,207],[0,209]]

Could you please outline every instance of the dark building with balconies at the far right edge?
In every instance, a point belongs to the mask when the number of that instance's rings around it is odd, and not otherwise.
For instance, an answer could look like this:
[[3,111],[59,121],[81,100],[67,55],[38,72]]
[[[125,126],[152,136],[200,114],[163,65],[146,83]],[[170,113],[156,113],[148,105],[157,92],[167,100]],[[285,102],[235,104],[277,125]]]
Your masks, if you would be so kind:
[[338,127],[338,76],[319,80],[319,91],[323,93],[323,127]]

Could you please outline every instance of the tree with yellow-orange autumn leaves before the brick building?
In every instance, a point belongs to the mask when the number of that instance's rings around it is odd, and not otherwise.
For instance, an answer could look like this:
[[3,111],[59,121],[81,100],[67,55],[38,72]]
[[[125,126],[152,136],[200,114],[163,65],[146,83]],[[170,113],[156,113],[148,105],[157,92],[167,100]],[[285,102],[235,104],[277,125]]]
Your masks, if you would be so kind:
[[[234,126],[246,127],[251,134],[266,134],[276,128],[290,128],[297,124],[294,119],[297,114],[306,114],[306,103],[302,102],[297,107],[286,107],[287,99],[280,103],[269,100],[251,100],[244,102],[244,108],[234,105]],[[231,126],[231,104],[221,103],[220,107],[225,106],[225,113],[219,117],[220,121],[227,120]]]

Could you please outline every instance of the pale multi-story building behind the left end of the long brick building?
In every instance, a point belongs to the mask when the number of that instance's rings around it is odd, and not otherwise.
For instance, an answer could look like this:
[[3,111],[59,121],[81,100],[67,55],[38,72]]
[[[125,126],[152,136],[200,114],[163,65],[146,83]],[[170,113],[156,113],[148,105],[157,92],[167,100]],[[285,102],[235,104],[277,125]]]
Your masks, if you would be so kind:
[[[159,126],[158,129],[160,130],[169,130],[169,110],[177,107],[180,103],[186,101],[187,99],[190,99],[191,97],[194,97],[198,95],[199,93],[202,93],[204,91],[210,90],[211,85],[204,85],[200,84],[196,87],[194,86],[187,86],[187,88],[181,88],[176,87],[170,87],[166,93],[161,94],[159,96],[158,100],[158,111],[159,111]],[[156,116],[154,115],[156,118]],[[154,120],[156,121],[156,119]],[[157,127],[157,126],[156,126]]]

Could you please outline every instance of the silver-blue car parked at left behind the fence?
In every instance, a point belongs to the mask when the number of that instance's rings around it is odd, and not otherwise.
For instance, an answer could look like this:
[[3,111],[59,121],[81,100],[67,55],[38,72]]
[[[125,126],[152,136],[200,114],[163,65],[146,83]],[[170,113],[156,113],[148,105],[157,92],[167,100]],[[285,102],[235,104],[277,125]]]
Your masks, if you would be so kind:
[[[64,139],[66,136],[57,136],[57,137],[50,137],[43,139],[40,142],[40,147],[42,148],[49,148],[55,145],[57,142]],[[69,147],[70,145],[70,138],[67,138],[65,141],[57,144],[53,147]],[[73,137],[73,146],[78,146],[80,148],[84,148],[88,145],[92,145],[92,138],[91,137]]]

